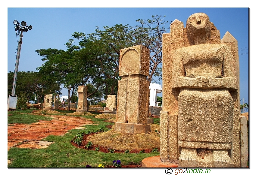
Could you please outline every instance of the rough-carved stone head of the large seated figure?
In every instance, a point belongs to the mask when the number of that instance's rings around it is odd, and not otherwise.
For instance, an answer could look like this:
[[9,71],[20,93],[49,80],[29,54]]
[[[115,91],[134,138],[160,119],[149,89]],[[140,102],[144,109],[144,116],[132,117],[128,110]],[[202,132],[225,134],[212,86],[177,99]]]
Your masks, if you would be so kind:
[[211,23],[207,14],[192,14],[186,23],[187,36],[194,44],[209,43]]

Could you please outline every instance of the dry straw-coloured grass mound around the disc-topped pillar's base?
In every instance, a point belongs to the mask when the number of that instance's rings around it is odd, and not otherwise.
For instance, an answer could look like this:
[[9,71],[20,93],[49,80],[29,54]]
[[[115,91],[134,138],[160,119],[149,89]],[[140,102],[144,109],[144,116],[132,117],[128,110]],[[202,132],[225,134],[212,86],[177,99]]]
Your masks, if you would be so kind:
[[159,147],[159,134],[155,132],[160,130],[160,125],[150,124],[151,132],[149,134],[122,134],[111,129],[90,136],[88,139],[94,145],[107,146],[116,150],[132,149],[153,149]]

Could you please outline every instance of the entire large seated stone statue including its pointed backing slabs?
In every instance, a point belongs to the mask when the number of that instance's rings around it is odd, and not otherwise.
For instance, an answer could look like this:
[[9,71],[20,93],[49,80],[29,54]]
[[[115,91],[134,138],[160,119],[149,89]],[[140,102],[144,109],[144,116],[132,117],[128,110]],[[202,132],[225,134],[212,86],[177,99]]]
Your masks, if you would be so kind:
[[196,13],[186,28],[174,20],[162,42],[161,161],[179,167],[241,167],[246,154],[241,145],[247,143],[240,140],[236,39],[229,32],[220,39],[209,17]]

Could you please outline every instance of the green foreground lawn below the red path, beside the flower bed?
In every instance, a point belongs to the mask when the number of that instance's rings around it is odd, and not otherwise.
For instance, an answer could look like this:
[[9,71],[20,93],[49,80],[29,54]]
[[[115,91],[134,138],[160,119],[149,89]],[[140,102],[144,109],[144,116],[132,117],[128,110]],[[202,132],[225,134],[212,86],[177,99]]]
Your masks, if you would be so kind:
[[142,159],[159,155],[159,152],[144,154],[103,153],[94,150],[80,149],[70,141],[78,130],[72,129],[64,136],[50,135],[43,141],[54,141],[45,149],[24,149],[13,147],[8,151],[8,159],[13,160],[9,167],[85,167],[87,164],[98,167],[99,164],[111,166],[113,160],[121,160],[122,165],[141,164]]

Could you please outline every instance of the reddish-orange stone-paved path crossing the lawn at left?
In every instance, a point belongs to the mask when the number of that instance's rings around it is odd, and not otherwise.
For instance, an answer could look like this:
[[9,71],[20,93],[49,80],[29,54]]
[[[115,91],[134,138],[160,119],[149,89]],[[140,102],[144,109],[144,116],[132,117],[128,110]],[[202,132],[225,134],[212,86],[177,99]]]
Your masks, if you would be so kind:
[[[35,115],[35,114],[33,114]],[[64,135],[70,129],[85,129],[84,125],[93,124],[92,119],[74,116],[45,115],[52,117],[51,121],[40,120],[39,122],[28,124],[8,125],[8,150],[11,147],[19,148],[47,148],[52,142],[40,141],[49,135]]]

